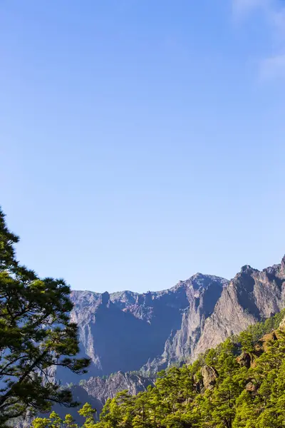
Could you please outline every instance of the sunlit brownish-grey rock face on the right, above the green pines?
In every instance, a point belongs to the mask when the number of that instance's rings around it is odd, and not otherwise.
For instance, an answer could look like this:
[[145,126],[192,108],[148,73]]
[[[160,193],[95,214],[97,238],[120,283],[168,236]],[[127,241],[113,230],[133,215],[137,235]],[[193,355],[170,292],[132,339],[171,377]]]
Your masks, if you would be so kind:
[[224,287],[212,315],[204,322],[192,360],[209,347],[237,335],[249,325],[271,317],[285,306],[285,259],[280,265],[259,271],[242,267]]

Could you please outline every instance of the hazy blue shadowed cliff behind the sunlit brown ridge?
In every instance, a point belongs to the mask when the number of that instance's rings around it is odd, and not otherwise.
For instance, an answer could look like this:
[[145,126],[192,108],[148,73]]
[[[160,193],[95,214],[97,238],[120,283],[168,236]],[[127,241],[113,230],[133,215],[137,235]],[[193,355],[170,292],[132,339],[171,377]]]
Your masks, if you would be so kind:
[[[170,290],[142,295],[73,292],[71,319],[79,327],[82,354],[92,360],[91,376],[147,364],[165,367],[189,355],[227,283],[197,274]],[[152,364],[157,360],[159,364]]]

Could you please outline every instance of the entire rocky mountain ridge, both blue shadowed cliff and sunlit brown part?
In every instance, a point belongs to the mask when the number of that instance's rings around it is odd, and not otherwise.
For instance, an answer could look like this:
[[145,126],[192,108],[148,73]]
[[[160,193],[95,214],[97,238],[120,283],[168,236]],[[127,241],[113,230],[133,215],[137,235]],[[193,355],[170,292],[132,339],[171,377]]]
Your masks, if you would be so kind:
[[197,274],[161,292],[74,291],[71,318],[82,355],[92,360],[89,376],[141,367],[155,372],[193,359],[281,310],[284,281],[285,258],[262,271],[244,266],[230,282]]

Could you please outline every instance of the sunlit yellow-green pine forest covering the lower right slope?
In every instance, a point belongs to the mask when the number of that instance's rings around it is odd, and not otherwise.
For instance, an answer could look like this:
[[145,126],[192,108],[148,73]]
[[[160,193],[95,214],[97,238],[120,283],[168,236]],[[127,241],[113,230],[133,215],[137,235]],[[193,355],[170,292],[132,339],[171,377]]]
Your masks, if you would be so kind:
[[[199,355],[192,365],[172,367],[157,374],[155,386],[135,397],[128,391],[108,399],[100,422],[85,404],[84,428],[284,428],[285,427],[285,332],[277,340],[261,337],[278,327],[285,311],[252,325],[215,349]],[[270,339],[270,337],[269,337]],[[247,368],[237,361],[251,352],[254,364]],[[217,374],[205,389],[204,369]],[[54,423],[54,422],[53,422]],[[51,427],[47,419],[33,428]],[[64,422],[62,427],[66,427]]]

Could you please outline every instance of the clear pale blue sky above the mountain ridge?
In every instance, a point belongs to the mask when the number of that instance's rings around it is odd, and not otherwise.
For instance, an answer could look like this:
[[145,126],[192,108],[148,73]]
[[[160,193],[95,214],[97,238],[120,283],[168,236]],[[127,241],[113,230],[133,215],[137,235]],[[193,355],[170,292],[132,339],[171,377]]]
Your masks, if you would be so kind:
[[99,292],[279,263],[283,2],[4,0],[0,58],[22,263]]

